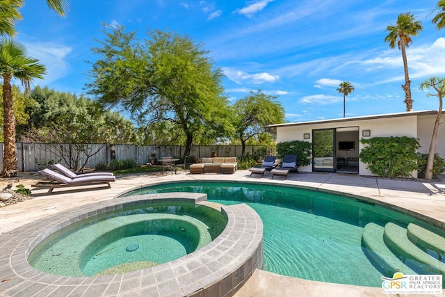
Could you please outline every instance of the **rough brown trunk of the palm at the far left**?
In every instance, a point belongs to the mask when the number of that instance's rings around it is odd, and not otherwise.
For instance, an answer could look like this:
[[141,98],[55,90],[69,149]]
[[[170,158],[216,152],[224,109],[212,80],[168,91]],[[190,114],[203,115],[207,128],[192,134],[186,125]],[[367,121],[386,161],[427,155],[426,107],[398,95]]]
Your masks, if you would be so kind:
[[1,176],[17,176],[17,153],[15,152],[15,116],[10,76],[3,77],[3,170]]

